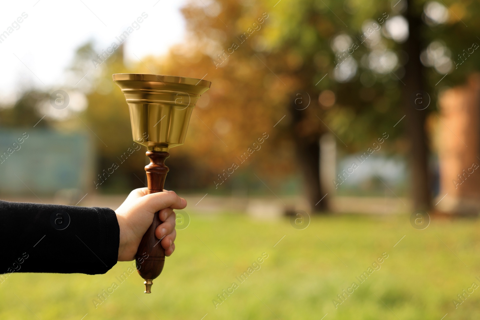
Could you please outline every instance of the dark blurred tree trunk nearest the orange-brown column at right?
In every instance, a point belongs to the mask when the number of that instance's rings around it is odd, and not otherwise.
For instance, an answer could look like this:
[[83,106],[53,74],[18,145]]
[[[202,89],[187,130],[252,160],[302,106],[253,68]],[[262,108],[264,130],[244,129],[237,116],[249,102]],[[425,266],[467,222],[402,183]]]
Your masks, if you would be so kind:
[[[428,157],[429,148],[427,133],[425,131],[425,119],[428,108],[415,104],[415,99],[421,97],[425,102],[428,97],[423,93],[423,66],[420,63],[421,50],[421,12],[416,12],[412,0],[408,0],[408,40],[405,43],[405,51],[408,54],[408,62],[405,65],[405,83],[403,98],[406,114],[406,129],[410,142],[410,170],[411,170],[411,197],[414,210],[429,210],[431,208],[431,186],[429,179]],[[420,94],[420,95],[417,95]],[[417,108],[416,108],[417,107]]]

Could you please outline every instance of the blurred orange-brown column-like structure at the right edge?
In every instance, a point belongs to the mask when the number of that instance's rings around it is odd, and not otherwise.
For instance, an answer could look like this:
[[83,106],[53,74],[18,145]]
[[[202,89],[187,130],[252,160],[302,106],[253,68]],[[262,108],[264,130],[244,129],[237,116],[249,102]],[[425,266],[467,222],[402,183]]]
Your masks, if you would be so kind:
[[471,214],[480,211],[480,75],[440,97],[438,155],[440,211]]

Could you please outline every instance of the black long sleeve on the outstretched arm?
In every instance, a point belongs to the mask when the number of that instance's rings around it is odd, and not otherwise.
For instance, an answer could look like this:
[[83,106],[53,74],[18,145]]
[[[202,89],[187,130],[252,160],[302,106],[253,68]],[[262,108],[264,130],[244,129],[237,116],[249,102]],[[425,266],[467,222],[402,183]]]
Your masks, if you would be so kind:
[[119,242],[111,209],[0,201],[0,273],[106,273]]

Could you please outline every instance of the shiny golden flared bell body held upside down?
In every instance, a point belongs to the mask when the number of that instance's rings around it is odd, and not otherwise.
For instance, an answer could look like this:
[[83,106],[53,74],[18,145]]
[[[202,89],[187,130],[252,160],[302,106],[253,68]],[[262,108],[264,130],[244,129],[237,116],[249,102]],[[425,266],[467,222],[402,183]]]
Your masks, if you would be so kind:
[[149,151],[162,152],[183,144],[193,107],[211,84],[206,80],[137,73],[117,73],[113,81],[127,100],[133,140]]

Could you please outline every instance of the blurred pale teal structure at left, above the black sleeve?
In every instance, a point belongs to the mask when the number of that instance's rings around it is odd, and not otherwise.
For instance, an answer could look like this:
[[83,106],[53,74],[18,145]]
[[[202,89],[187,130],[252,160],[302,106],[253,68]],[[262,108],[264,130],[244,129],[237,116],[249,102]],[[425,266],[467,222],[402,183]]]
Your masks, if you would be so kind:
[[0,130],[0,196],[81,193],[93,186],[93,165],[87,134]]

